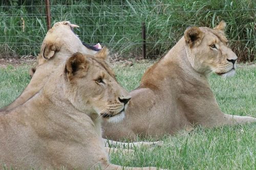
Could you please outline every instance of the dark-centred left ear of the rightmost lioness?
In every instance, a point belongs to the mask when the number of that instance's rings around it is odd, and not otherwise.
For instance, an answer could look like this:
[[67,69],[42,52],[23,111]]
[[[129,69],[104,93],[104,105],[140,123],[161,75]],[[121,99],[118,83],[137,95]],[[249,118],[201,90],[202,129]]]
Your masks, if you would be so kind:
[[204,37],[204,33],[198,27],[189,27],[185,31],[185,41],[189,47],[199,45]]

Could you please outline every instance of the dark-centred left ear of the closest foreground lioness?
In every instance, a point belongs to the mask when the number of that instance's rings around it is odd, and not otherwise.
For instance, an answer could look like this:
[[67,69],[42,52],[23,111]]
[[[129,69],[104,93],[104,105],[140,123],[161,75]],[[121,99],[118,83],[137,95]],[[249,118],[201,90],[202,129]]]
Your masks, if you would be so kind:
[[81,53],[75,53],[66,61],[66,74],[69,80],[72,80],[74,76],[82,77],[85,75],[85,71],[89,67],[87,57]]

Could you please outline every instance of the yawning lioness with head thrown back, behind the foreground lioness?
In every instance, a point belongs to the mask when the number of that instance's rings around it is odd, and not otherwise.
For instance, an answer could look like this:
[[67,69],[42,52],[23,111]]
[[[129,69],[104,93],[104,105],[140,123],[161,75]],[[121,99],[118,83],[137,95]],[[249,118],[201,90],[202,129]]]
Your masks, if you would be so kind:
[[[40,54],[37,57],[36,68],[31,69],[30,74],[35,74],[26,89],[19,97],[3,110],[10,110],[26,102],[46,83],[46,79],[59,64],[76,52],[94,55],[98,50],[84,46],[81,40],[74,34],[73,29],[78,26],[69,21],[56,22],[48,31],[41,45]],[[48,62],[50,61],[50,62]],[[37,71],[35,71],[37,70]],[[35,72],[34,72],[35,71]],[[1,111],[0,110],[0,111]]]

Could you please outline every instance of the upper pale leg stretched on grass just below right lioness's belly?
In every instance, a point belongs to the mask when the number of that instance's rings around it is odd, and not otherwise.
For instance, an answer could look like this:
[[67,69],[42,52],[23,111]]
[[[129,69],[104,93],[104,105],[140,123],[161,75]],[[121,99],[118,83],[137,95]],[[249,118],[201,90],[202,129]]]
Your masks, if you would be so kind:
[[112,145],[120,145],[125,148],[139,148],[139,147],[155,147],[163,145],[163,141],[155,142],[119,142],[114,140],[104,139],[105,147],[111,147]]

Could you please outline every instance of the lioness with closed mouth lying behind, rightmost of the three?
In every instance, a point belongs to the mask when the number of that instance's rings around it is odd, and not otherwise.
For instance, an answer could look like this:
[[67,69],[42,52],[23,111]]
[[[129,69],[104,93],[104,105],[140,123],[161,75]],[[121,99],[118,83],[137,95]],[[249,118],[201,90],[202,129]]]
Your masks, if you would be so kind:
[[227,45],[225,22],[214,29],[190,27],[177,44],[148,68],[122,123],[103,124],[103,137],[113,140],[155,138],[194,125],[216,127],[256,122],[256,118],[224,114],[212,93],[207,76],[211,72],[234,75],[237,60]]

